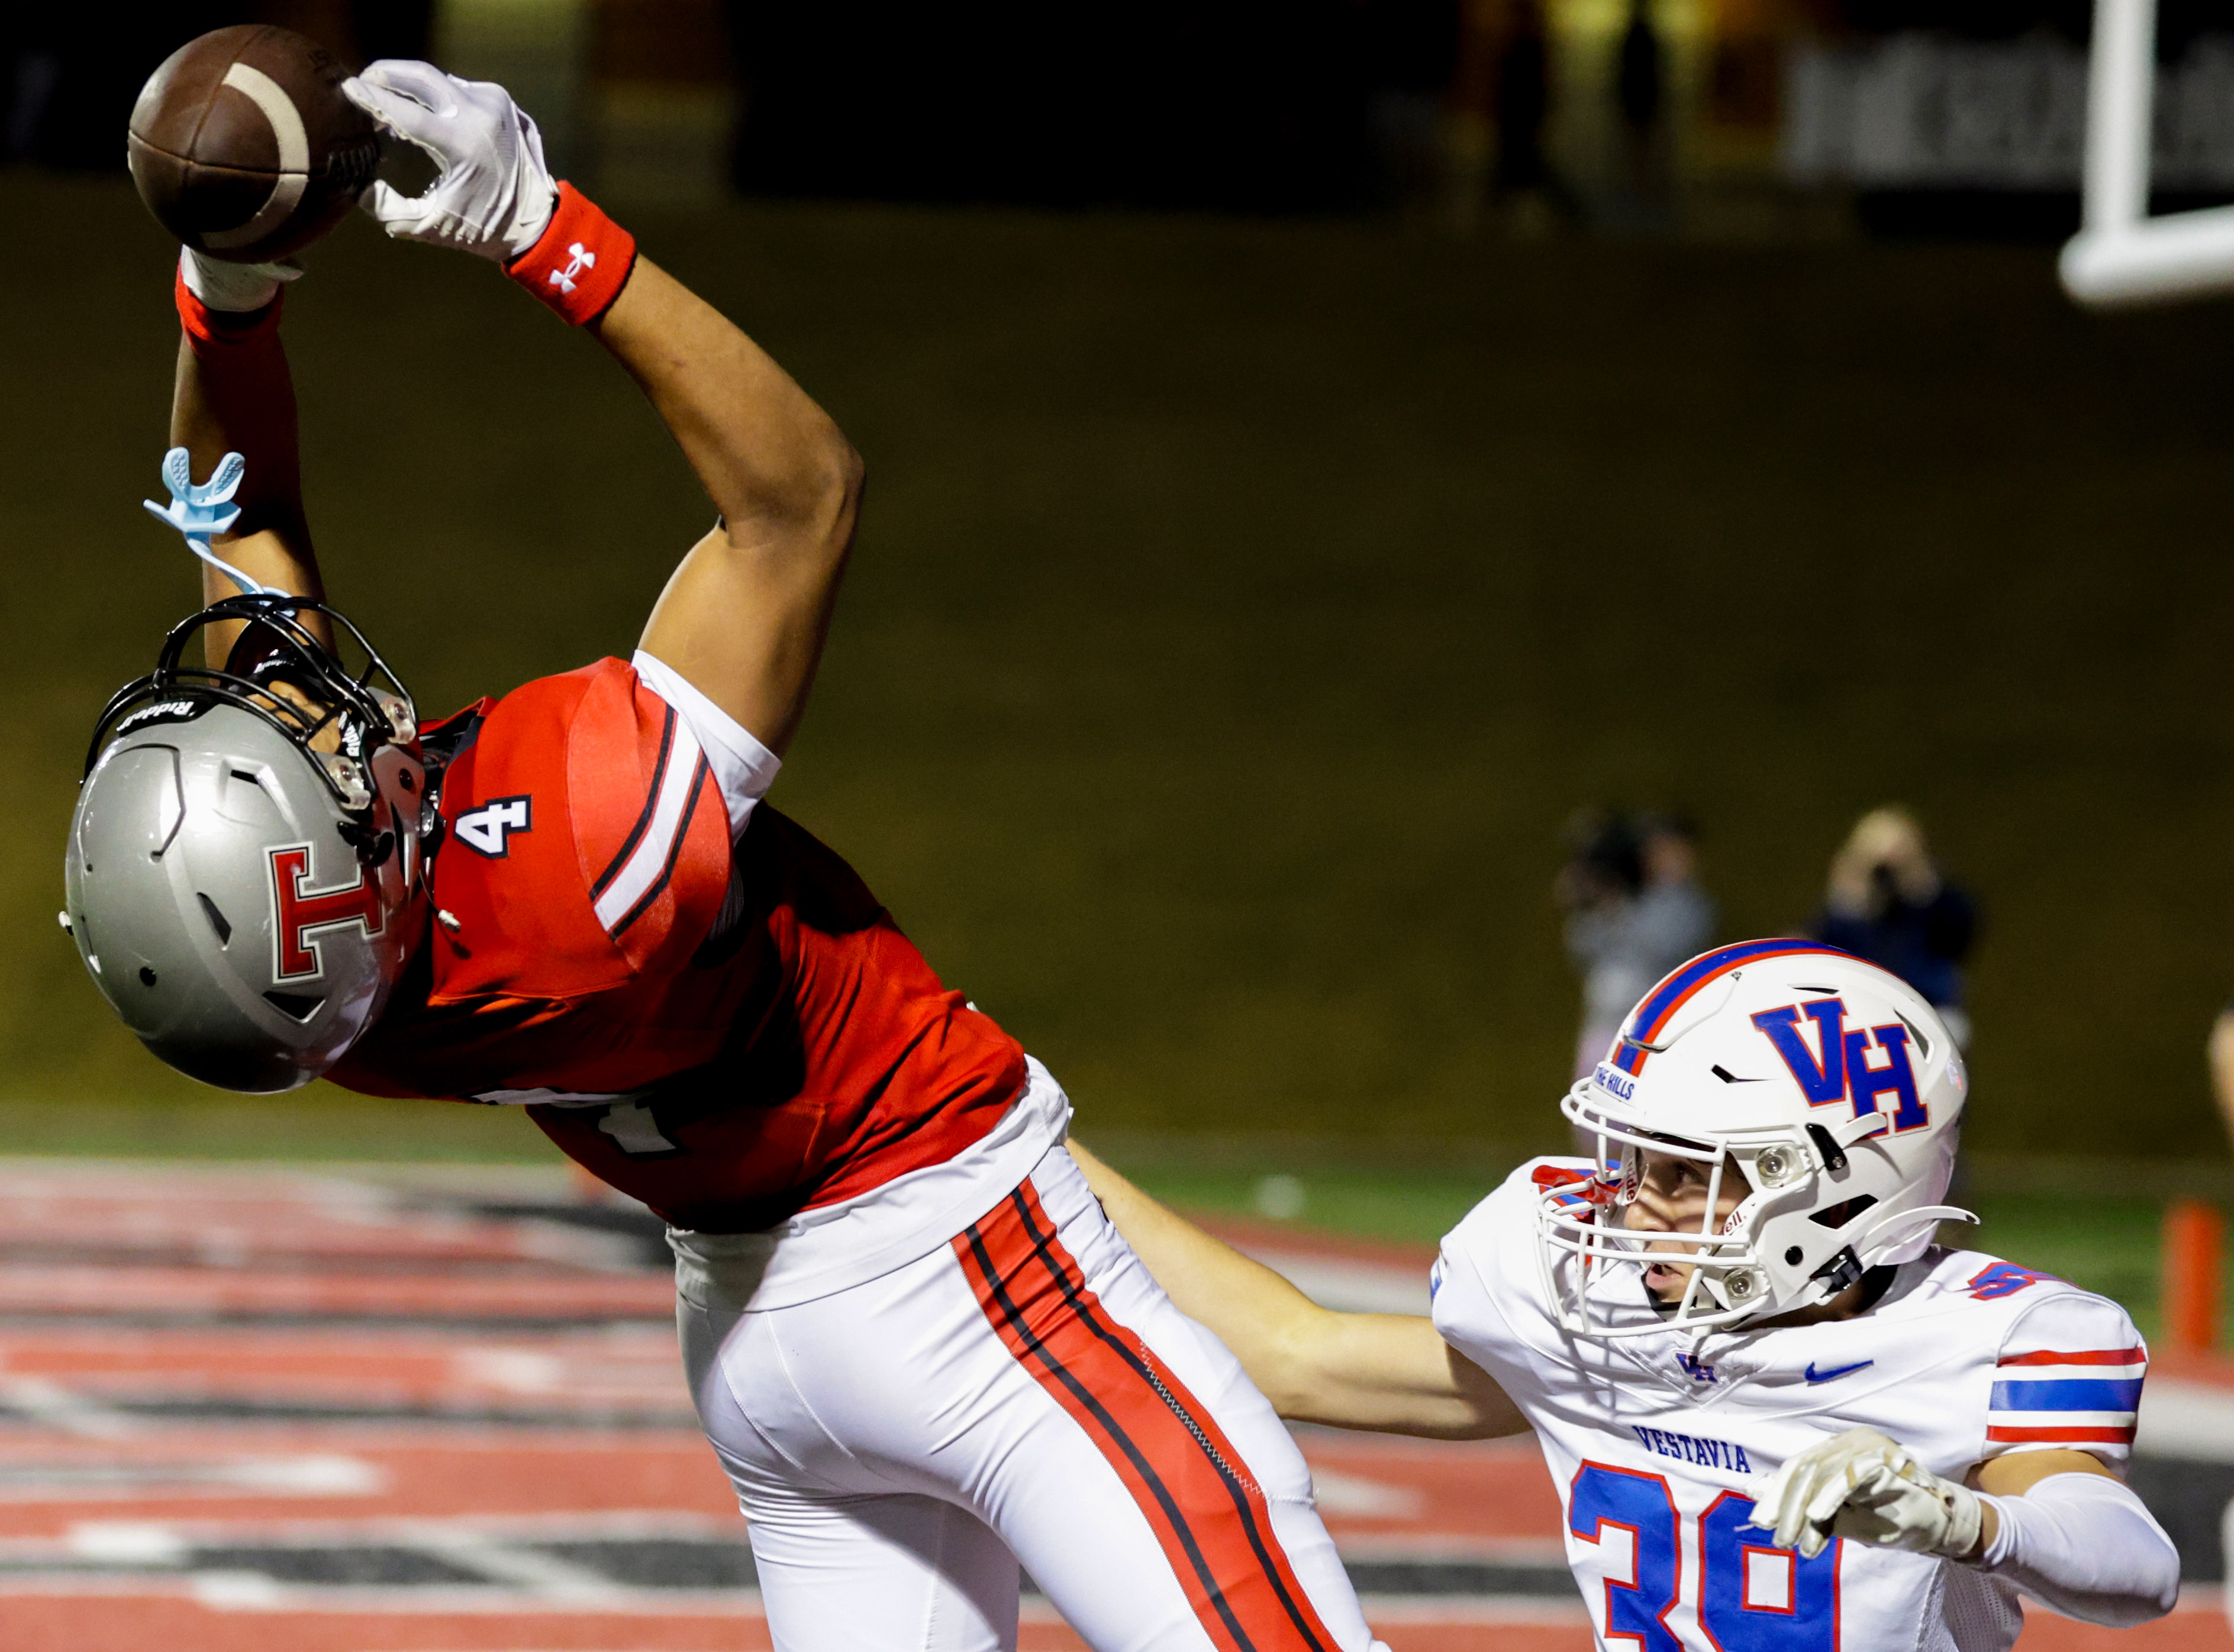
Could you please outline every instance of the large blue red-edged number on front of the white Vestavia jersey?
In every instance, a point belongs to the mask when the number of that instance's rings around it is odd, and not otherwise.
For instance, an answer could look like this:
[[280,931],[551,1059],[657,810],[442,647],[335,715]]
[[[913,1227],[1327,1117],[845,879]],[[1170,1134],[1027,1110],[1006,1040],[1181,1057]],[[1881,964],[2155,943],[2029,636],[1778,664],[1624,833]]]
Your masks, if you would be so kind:
[[[1776,1549],[1745,1525],[1754,1500],[1725,1491],[1698,1518],[1700,1627],[1720,1652],[1839,1652],[1839,1545],[1814,1560]],[[1620,1554],[1602,1567],[1606,1645],[1622,1652],[1684,1652],[1669,1625],[1682,1576],[1682,1516],[1658,1473],[1584,1462],[1566,1498],[1566,1525],[1584,1543],[1629,1534],[1629,1576]],[[1577,1567],[1579,1569],[1579,1567]]]

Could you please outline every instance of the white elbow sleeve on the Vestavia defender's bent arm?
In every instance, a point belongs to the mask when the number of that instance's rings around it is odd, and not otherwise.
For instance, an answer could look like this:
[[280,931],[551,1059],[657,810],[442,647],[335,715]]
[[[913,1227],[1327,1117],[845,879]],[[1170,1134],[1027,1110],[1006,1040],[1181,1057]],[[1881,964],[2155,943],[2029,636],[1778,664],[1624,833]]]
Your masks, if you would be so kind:
[[2051,1473],[1993,1502],[1999,1529],[1979,1569],[2035,1601],[2113,1630],[2165,1616],[2180,1598],[2180,1552],[2125,1482]]

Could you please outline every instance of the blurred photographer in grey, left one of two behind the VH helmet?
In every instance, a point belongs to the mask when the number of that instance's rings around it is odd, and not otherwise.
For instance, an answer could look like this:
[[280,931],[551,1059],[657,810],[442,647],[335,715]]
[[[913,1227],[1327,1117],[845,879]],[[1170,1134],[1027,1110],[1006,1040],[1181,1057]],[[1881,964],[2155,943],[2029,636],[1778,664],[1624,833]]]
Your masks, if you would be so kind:
[[1568,828],[1575,857],[1559,873],[1566,951],[1582,971],[1575,1076],[1655,980],[1713,942],[1713,897],[1698,886],[1698,833],[1678,815],[1582,815]]

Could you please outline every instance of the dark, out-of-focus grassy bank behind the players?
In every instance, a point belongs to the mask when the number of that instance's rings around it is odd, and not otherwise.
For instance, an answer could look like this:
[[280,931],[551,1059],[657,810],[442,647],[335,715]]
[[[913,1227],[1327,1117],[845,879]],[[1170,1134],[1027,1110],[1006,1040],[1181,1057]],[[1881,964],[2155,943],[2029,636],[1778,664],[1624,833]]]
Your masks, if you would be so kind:
[[[331,1092],[134,1112],[188,1087],[54,911],[87,723],[190,601],[139,511],[170,252],[121,181],[7,174],[0,210],[56,248],[0,266],[0,1123],[532,1152]],[[869,458],[775,804],[1088,1139],[1553,1145],[1568,810],[1693,808],[1745,935],[1897,797],[1988,911],[1973,1143],[2223,1159],[2227,306],[2084,317],[2028,250],[623,217]],[[351,221],[308,263],[311,511],[424,708],[626,652],[710,518],[637,393],[471,259]]]

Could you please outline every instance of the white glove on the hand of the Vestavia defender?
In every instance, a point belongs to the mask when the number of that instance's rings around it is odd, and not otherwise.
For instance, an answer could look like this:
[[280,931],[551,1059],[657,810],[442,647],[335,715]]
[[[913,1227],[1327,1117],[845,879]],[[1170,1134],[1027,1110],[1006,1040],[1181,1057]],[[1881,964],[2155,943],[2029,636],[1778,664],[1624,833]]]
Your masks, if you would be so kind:
[[1772,1473],[1747,1525],[1774,1529],[1776,1547],[1810,1560],[1832,1538],[1961,1560],[1982,1520],[1970,1487],[1941,1480],[1877,1429],[1848,1429]]

